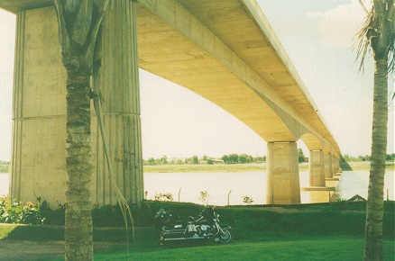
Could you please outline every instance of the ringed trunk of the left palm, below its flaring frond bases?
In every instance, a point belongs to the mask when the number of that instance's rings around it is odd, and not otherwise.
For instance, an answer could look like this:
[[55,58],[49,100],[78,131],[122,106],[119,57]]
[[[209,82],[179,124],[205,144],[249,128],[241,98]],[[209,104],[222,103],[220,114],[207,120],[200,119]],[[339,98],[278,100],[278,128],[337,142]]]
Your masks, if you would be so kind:
[[66,260],[93,260],[89,76],[67,80]]

